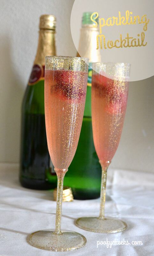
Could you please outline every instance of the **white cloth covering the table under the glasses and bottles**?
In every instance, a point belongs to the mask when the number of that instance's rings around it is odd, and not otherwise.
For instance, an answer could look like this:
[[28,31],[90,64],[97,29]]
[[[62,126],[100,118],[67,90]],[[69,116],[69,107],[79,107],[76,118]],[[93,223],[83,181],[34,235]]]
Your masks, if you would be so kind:
[[[14,166],[15,167],[15,166]],[[22,188],[18,168],[0,165],[0,255],[154,255],[154,174],[108,170],[106,216],[117,217],[128,229],[116,234],[92,233],[74,225],[81,216],[97,216],[99,199],[65,202],[62,205],[62,228],[74,230],[87,238],[87,244],[73,252],[50,252],[26,242],[26,236],[41,229],[54,228],[56,202],[51,191]],[[98,241],[128,241],[129,245],[98,245]],[[141,241],[143,245],[132,245]]]

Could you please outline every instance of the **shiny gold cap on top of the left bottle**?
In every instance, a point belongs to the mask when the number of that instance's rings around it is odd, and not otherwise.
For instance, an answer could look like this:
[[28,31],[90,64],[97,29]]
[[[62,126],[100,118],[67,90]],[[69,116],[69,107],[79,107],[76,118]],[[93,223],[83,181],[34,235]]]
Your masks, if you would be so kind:
[[56,18],[54,15],[44,14],[40,16],[40,29],[51,29],[56,28]]

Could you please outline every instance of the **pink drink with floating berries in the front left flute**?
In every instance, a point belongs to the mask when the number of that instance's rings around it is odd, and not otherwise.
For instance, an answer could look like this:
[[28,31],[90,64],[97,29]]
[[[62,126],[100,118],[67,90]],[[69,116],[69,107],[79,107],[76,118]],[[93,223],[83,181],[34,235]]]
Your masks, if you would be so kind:
[[87,75],[81,71],[45,71],[45,119],[48,150],[57,169],[75,155],[84,113]]

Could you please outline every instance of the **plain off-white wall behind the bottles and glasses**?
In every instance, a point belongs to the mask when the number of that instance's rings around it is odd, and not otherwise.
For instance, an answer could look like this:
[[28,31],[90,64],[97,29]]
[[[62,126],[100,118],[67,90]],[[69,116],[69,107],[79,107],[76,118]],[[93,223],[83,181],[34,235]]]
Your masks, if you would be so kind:
[[[22,97],[38,43],[41,14],[57,18],[57,55],[76,55],[70,13],[74,0],[0,0],[0,162],[18,163]],[[112,167],[154,172],[154,76],[131,82]]]

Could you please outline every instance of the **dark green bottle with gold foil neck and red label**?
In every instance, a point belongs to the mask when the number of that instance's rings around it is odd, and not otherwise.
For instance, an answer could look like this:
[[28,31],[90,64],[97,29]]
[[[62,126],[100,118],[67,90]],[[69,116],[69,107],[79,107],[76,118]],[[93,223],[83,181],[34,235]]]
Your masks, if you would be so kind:
[[26,188],[50,189],[57,182],[48,153],[44,115],[45,56],[56,55],[55,25],[55,16],[40,17],[38,49],[22,103],[20,183]]

